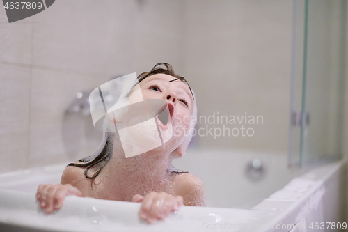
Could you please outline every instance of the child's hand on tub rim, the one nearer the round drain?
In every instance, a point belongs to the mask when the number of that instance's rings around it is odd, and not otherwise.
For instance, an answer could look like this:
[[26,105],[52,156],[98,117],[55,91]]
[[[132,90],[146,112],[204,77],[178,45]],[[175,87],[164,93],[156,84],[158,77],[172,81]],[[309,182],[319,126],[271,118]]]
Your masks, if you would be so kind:
[[132,201],[143,202],[139,217],[150,224],[165,219],[169,212],[178,210],[183,204],[182,196],[173,196],[166,192],[150,192],[146,196],[136,194]]

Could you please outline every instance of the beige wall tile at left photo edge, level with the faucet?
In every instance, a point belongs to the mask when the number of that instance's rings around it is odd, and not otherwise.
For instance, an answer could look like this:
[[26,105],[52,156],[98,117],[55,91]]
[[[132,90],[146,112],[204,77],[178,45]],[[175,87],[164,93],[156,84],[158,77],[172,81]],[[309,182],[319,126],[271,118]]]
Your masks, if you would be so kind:
[[26,169],[31,70],[0,63],[0,172]]

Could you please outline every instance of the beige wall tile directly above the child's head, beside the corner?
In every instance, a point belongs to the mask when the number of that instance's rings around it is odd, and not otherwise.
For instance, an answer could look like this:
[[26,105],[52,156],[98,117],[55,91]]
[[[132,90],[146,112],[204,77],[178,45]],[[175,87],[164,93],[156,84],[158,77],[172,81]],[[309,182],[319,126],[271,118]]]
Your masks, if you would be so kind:
[[184,2],[144,1],[136,17],[134,63],[136,73],[166,62],[183,71]]

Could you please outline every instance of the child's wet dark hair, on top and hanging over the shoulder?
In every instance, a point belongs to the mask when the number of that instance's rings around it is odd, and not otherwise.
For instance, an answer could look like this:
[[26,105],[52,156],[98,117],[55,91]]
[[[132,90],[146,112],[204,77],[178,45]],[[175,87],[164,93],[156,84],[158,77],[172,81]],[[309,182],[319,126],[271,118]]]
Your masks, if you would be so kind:
[[[165,68],[162,68],[161,66],[164,66]],[[159,73],[163,73],[163,74],[171,75],[175,77],[175,79],[171,80],[170,82],[180,79],[182,82],[185,82],[187,86],[189,86],[186,79],[184,79],[184,77],[176,75],[173,67],[168,63],[157,63],[157,65],[155,65],[150,72],[141,73],[141,75],[137,77],[138,83],[143,81],[143,79],[145,79],[146,77],[150,77],[152,75],[159,74]],[[189,86],[189,89],[191,91],[190,86]],[[92,185],[92,183],[94,183],[93,180],[100,174],[100,171],[102,171],[102,169],[111,159],[111,156],[113,153],[113,137],[115,134],[116,132],[110,132],[106,130],[105,132],[106,142],[105,142],[104,148],[98,155],[93,154],[88,157],[84,157],[83,159],[79,160],[79,162],[83,162],[82,164],[70,163],[68,164],[68,166],[86,167],[84,171],[84,175],[86,176],[86,178],[92,180],[91,182],[91,185]]]

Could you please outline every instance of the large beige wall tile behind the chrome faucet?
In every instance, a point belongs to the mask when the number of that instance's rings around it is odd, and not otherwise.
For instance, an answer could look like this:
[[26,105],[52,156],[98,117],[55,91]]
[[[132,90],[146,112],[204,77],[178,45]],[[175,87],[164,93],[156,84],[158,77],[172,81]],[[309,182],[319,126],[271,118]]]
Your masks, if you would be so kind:
[[[30,130],[30,166],[68,162],[90,155],[97,148],[102,137],[97,141],[88,141],[84,132],[88,127],[93,127],[91,121],[86,121],[84,116],[71,118],[65,116],[65,111],[79,91],[91,91],[100,84],[109,81],[109,77],[86,77],[70,73],[54,72],[51,70],[33,69],[33,91],[31,103],[31,130]],[[68,121],[66,121],[68,120]],[[90,124],[88,124],[90,123]],[[71,133],[63,130],[63,125],[72,130]],[[76,130],[81,131],[76,131]],[[93,132],[93,130],[92,130]],[[68,133],[68,134],[67,134]],[[70,134],[69,134],[70,133]],[[70,143],[80,144],[79,148],[86,153],[72,154],[65,147],[66,140],[63,136],[70,136]],[[92,145],[86,146],[92,143]],[[90,149],[90,150],[88,150]],[[71,151],[71,149],[70,149]]]

